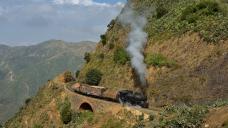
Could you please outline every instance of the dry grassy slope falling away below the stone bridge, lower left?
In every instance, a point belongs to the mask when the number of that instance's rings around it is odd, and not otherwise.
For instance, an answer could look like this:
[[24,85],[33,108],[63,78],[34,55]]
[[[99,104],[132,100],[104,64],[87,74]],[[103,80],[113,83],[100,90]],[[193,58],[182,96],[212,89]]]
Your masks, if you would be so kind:
[[[37,95],[27,102],[13,118],[5,124],[6,128],[127,128],[124,120],[118,120],[111,113],[94,114],[71,110],[69,96],[64,91],[62,75],[48,81]],[[63,120],[70,122],[64,123]]]

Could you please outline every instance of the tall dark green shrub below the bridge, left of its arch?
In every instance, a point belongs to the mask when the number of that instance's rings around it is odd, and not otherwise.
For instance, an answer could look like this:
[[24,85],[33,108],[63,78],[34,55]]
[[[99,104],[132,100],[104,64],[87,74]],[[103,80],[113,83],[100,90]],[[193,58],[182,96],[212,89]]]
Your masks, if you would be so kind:
[[60,104],[60,116],[61,120],[64,124],[68,124],[72,120],[72,111],[71,104],[66,99],[62,104]]

